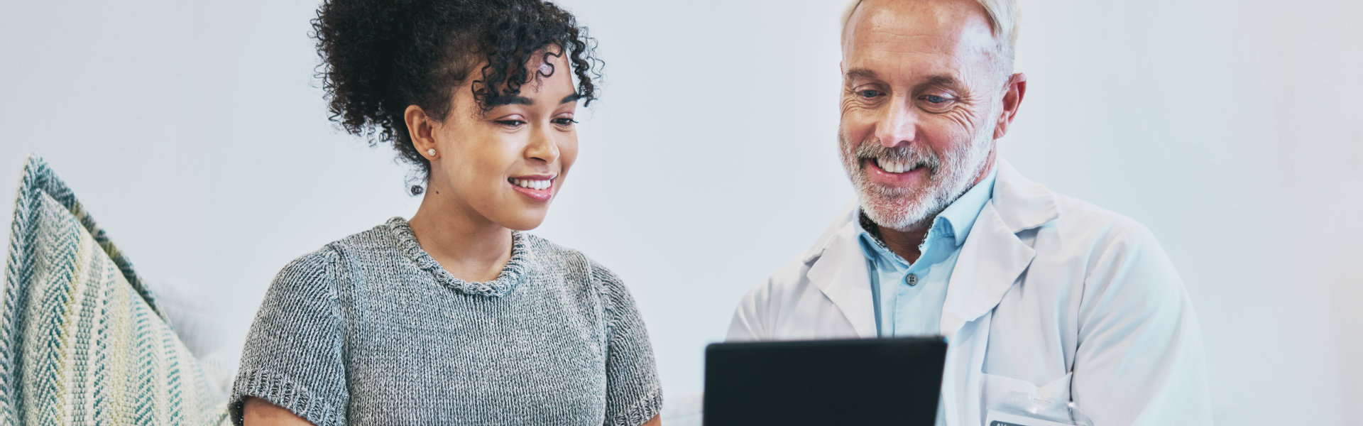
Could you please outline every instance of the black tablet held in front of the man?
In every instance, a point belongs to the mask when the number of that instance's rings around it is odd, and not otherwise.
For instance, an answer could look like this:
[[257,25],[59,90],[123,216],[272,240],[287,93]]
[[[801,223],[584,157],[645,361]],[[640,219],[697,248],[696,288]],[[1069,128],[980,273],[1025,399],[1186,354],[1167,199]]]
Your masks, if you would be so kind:
[[705,426],[932,425],[946,340],[716,343],[705,348]]

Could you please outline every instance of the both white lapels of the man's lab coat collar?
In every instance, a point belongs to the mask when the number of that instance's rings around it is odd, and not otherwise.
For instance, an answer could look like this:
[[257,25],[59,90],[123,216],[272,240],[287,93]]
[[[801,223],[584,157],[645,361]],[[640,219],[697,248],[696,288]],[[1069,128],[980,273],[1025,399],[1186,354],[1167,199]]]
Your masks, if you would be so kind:
[[[1059,216],[1055,194],[1045,186],[1022,178],[1003,158],[995,167],[992,198],[970,227],[970,236],[951,272],[942,309],[942,335],[946,336],[954,336],[964,324],[994,310],[1030,265],[1036,251],[1017,233]],[[810,264],[810,283],[841,310],[857,335],[875,337],[871,277],[857,242],[859,212],[856,202],[848,205],[804,253],[803,261]]]

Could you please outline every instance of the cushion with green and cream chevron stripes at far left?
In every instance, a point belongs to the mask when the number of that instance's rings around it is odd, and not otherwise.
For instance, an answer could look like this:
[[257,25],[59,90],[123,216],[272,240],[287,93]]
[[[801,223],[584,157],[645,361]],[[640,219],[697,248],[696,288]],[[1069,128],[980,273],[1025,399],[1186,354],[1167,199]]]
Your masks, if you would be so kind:
[[10,231],[0,426],[230,425],[132,264],[37,156]]

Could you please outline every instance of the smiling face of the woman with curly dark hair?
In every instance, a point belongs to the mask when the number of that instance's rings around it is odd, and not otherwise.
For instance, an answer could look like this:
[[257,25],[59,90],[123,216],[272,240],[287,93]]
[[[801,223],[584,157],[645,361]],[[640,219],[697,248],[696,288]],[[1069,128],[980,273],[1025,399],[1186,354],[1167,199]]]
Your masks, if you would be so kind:
[[[532,57],[529,75],[540,76],[487,112],[470,91],[476,78],[454,90],[450,115],[432,126],[436,157],[427,197],[448,197],[442,201],[470,218],[511,229],[532,229],[544,221],[578,157],[578,94],[563,55],[541,51]],[[474,67],[473,75],[480,68]]]

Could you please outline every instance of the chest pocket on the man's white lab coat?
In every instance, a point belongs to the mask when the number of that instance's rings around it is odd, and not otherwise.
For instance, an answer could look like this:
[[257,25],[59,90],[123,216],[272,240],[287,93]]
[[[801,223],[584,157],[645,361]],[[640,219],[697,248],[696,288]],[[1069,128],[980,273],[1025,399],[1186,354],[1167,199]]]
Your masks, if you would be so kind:
[[[1073,373],[1043,385],[998,375],[981,374],[980,400],[985,421],[1014,419],[1000,425],[1092,425],[1077,407],[1070,403],[1070,380]],[[1039,421],[1028,423],[1029,421]]]

